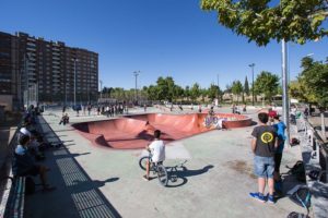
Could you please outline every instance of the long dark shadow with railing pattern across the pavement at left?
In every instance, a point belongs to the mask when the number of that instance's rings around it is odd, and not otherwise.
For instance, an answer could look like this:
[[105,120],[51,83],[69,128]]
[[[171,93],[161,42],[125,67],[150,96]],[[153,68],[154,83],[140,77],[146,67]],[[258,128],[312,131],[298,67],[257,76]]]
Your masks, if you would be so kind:
[[[39,117],[43,131],[49,132],[51,128]],[[52,130],[51,130],[52,131]],[[49,136],[54,143],[60,143],[60,138],[52,134]],[[26,196],[26,218],[57,218],[57,217],[120,217],[110,202],[103,195],[98,187],[108,182],[115,182],[118,178],[109,178],[105,181],[92,180],[75,157],[83,154],[71,154],[66,147],[46,152],[49,183],[57,187],[54,192],[36,192]],[[36,180],[36,178],[34,178]],[[37,182],[36,182],[37,183]]]

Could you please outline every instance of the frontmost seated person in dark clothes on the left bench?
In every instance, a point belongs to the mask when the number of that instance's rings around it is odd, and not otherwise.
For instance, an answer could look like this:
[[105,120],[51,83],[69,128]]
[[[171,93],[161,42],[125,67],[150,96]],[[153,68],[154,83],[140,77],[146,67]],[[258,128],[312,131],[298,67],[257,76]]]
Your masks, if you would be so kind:
[[13,168],[15,171],[15,174],[17,177],[26,177],[26,175],[39,175],[39,179],[42,181],[43,190],[44,191],[52,191],[56,187],[50,186],[47,183],[47,177],[46,173],[49,170],[45,166],[36,165],[34,161],[34,158],[30,155],[27,146],[30,143],[30,136],[28,135],[22,135],[20,138],[20,144],[15,148],[14,152],[14,164]]

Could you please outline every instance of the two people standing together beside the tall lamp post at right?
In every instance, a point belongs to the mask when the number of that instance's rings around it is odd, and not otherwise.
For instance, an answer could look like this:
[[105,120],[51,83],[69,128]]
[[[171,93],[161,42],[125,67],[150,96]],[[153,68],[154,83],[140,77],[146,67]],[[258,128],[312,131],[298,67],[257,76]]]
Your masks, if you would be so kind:
[[[254,172],[258,178],[258,192],[249,195],[260,202],[274,203],[274,193],[282,191],[280,164],[285,142],[285,124],[279,114],[258,113],[259,125],[254,128],[251,136],[251,150],[254,157]],[[270,121],[271,125],[268,124]],[[266,183],[269,193],[265,195]]]

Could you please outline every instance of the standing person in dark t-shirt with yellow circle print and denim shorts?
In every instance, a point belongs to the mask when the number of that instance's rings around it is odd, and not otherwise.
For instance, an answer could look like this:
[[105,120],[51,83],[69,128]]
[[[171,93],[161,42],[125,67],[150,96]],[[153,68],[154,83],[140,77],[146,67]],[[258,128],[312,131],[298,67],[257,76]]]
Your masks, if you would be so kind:
[[269,120],[268,113],[258,114],[259,125],[254,128],[251,136],[251,150],[254,157],[254,172],[258,177],[258,192],[249,193],[251,197],[265,203],[266,180],[269,186],[268,203],[274,203],[274,150],[278,146],[276,130],[267,125]]

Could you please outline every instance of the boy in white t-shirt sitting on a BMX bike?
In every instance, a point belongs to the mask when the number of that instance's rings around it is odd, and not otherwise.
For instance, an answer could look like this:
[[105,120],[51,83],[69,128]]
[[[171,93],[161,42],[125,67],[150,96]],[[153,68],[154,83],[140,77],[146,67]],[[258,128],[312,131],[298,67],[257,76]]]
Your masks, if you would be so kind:
[[[152,162],[163,162],[165,160],[165,145],[161,137],[161,131],[155,130],[154,131],[154,137],[155,140],[148,146],[145,146],[145,149],[152,154]],[[145,175],[143,175],[143,179],[149,181],[149,168],[150,162],[147,161],[145,165]]]

